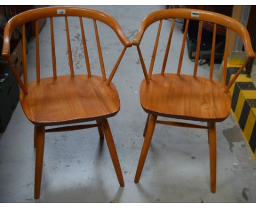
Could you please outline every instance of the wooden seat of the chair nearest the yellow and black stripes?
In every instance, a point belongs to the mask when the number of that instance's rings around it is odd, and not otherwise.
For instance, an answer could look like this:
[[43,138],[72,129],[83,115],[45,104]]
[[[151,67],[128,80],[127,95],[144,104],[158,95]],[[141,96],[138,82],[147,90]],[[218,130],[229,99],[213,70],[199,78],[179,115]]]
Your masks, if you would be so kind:
[[140,100],[147,113],[197,121],[223,121],[231,107],[222,84],[190,75],[152,75],[141,83]]

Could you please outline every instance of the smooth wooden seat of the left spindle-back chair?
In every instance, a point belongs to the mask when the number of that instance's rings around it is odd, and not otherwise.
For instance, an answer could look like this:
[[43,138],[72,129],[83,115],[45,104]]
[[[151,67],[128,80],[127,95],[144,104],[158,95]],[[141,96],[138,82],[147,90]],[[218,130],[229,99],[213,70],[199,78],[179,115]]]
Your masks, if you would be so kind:
[[20,92],[26,117],[36,125],[77,123],[112,117],[120,109],[117,89],[102,77],[69,75],[40,79]]

